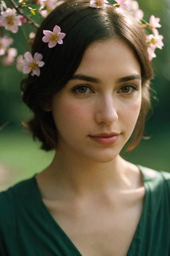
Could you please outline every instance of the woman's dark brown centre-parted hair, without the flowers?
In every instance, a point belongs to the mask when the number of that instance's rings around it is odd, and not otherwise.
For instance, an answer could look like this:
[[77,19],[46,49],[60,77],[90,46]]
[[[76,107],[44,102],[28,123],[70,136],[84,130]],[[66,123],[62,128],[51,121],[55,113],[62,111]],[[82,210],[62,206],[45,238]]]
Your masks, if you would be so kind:
[[[48,44],[42,42],[43,30],[52,31],[55,25],[60,26],[66,36],[62,47],[56,45],[49,49]],[[132,150],[140,142],[150,108],[149,81],[153,76],[143,28],[128,13],[111,4],[96,9],[90,7],[90,2],[67,1],[57,6],[37,31],[32,54],[39,52],[43,55],[45,65],[41,68],[40,76],[32,77],[29,74],[21,82],[23,101],[34,114],[25,124],[33,138],[42,142],[43,150],[49,151],[57,146],[57,129],[51,111],[43,109],[45,103],[70,80],[92,42],[116,36],[132,47],[141,66],[142,104],[134,137],[127,150]]]

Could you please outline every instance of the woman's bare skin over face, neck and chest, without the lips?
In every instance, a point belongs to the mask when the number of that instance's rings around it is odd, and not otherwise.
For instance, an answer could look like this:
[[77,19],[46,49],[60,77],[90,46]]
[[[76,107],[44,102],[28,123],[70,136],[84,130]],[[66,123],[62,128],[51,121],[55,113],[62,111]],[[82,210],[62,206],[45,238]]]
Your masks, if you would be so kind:
[[[125,256],[145,194],[140,170],[119,155],[140,112],[140,64],[116,38],[93,43],[75,75],[48,106],[58,144],[52,163],[36,176],[38,186],[82,256]],[[103,132],[117,132],[119,139],[101,145],[90,138]]]

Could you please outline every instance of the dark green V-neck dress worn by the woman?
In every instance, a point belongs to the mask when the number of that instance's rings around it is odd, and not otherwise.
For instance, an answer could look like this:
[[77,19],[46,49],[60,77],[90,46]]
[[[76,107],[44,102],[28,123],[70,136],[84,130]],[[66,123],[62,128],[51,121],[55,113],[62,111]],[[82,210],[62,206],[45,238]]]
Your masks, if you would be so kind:
[[[138,167],[145,198],[127,255],[170,256],[170,173]],[[54,255],[82,256],[44,205],[35,176],[1,192],[0,256]]]

